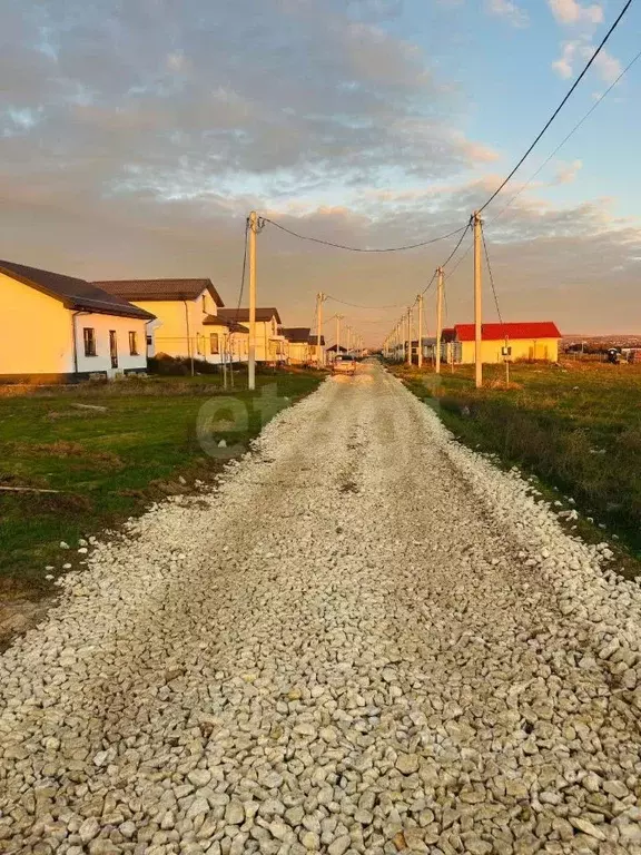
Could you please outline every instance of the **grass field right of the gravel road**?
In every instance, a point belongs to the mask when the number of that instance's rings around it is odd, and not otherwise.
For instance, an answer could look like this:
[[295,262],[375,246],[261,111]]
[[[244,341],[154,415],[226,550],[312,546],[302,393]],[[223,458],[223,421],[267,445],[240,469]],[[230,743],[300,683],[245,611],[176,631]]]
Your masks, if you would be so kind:
[[575,499],[578,507],[641,554],[641,365],[395,365],[395,374],[472,448],[497,453]]

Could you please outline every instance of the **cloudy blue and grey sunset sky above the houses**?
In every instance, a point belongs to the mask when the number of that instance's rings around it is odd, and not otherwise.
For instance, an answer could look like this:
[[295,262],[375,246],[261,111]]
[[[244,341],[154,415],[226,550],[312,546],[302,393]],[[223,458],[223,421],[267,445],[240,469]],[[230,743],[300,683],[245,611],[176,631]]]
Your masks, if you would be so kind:
[[[208,276],[236,305],[252,209],[363,248],[452,232],[519,160],[622,6],[0,0],[0,256],[87,279]],[[640,36],[633,3],[483,214],[504,321],[641,332],[641,60],[539,171]],[[313,325],[323,291],[328,341],[338,313],[377,345],[455,242],[349,253],[267,223],[258,303],[287,326]],[[472,320],[469,244],[446,268],[448,324]],[[486,272],[484,320],[496,320]]]

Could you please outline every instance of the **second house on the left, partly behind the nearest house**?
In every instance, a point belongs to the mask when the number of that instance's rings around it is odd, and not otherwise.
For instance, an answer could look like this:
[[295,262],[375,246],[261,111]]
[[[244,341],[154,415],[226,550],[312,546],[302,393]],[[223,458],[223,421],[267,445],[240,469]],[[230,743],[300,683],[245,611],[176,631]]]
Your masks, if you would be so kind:
[[[211,316],[224,305],[211,279],[118,279],[95,282],[100,288],[156,315],[149,356],[168,356],[220,363],[219,333]],[[218,342],[218,343],[217,343]]]

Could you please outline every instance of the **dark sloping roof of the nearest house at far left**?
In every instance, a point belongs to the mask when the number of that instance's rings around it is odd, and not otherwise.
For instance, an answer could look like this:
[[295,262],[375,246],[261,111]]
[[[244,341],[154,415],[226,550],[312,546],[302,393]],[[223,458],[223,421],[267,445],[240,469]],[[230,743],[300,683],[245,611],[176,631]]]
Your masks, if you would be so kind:
[[155,317],[144,308],[132,306],[131,303],[120,296],[110,294],[93,283],[77,279],[73,276],[63,276],[60,273],[3,261],[0,261],[0,273],[21,282],[23,285],[29,285],[42,294],[62,301],[67,308],[97,312],[103,315],[120,315],[121,317],[140,317],[145,321]]

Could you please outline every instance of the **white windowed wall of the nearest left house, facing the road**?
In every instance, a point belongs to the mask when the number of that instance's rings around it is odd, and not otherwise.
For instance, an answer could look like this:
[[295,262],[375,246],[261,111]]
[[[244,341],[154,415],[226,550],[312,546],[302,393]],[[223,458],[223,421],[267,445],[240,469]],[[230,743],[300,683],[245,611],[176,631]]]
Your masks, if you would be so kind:
[[[88,326],[96,331],[96,356],[85,356],[85,337],[82,330]],[[118,367],[111,367],[109,353],[109,331],[116,331],[118,345]],[[137,333],[138,355],[129,353],[129,331]],[[79,314],[76,317],[76,343],[79,372],[107,372],[112,377],[124,371],[147,368],[147,325],[136,317],[118,317],[116,315]]]

